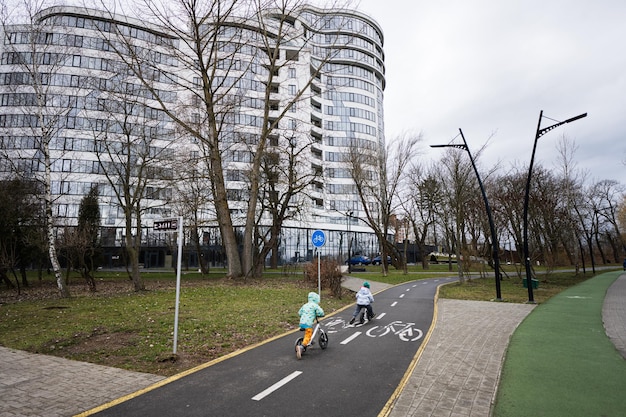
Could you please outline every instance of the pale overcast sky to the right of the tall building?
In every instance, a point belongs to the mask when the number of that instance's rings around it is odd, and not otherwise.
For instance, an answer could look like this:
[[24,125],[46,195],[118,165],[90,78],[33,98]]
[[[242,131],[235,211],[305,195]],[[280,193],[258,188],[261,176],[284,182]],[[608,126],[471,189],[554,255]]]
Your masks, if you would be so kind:
[[626,185],[626,1],[361,0],[357,9],[385,35],[388,141],[422,132],[423,157],[438,158],[428,145],[461,128],[472,153],[488,142],[483,169],[507,170],[530,162],[541,110],[542,128],[588,113],[542,136],[535,164],[556,168],[565,136],[589,182]]

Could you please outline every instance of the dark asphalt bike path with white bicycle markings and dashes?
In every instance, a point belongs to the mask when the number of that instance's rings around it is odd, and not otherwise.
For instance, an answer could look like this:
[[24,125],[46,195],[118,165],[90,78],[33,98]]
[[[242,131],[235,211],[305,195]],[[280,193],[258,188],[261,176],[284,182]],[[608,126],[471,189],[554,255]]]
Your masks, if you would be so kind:
[[[376,318],[350,325],[354,305],[321,323],[328,348],[298,360],[292,332],[166,379],[81,416],[377,416],[433,324],[437,287],[455,277],[413,281],[375,294]],[[323,306],[323,300],[322,300]],[[317,339],[317,337],[316,337]]]

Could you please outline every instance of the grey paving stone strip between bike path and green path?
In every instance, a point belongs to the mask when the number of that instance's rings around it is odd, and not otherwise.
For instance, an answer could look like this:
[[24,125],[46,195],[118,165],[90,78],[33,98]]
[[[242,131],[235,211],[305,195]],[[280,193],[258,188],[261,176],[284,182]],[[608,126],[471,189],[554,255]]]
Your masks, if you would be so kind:
[[532,304],[440,299],[435,329],[390,417],[489,416],[509,338]]

